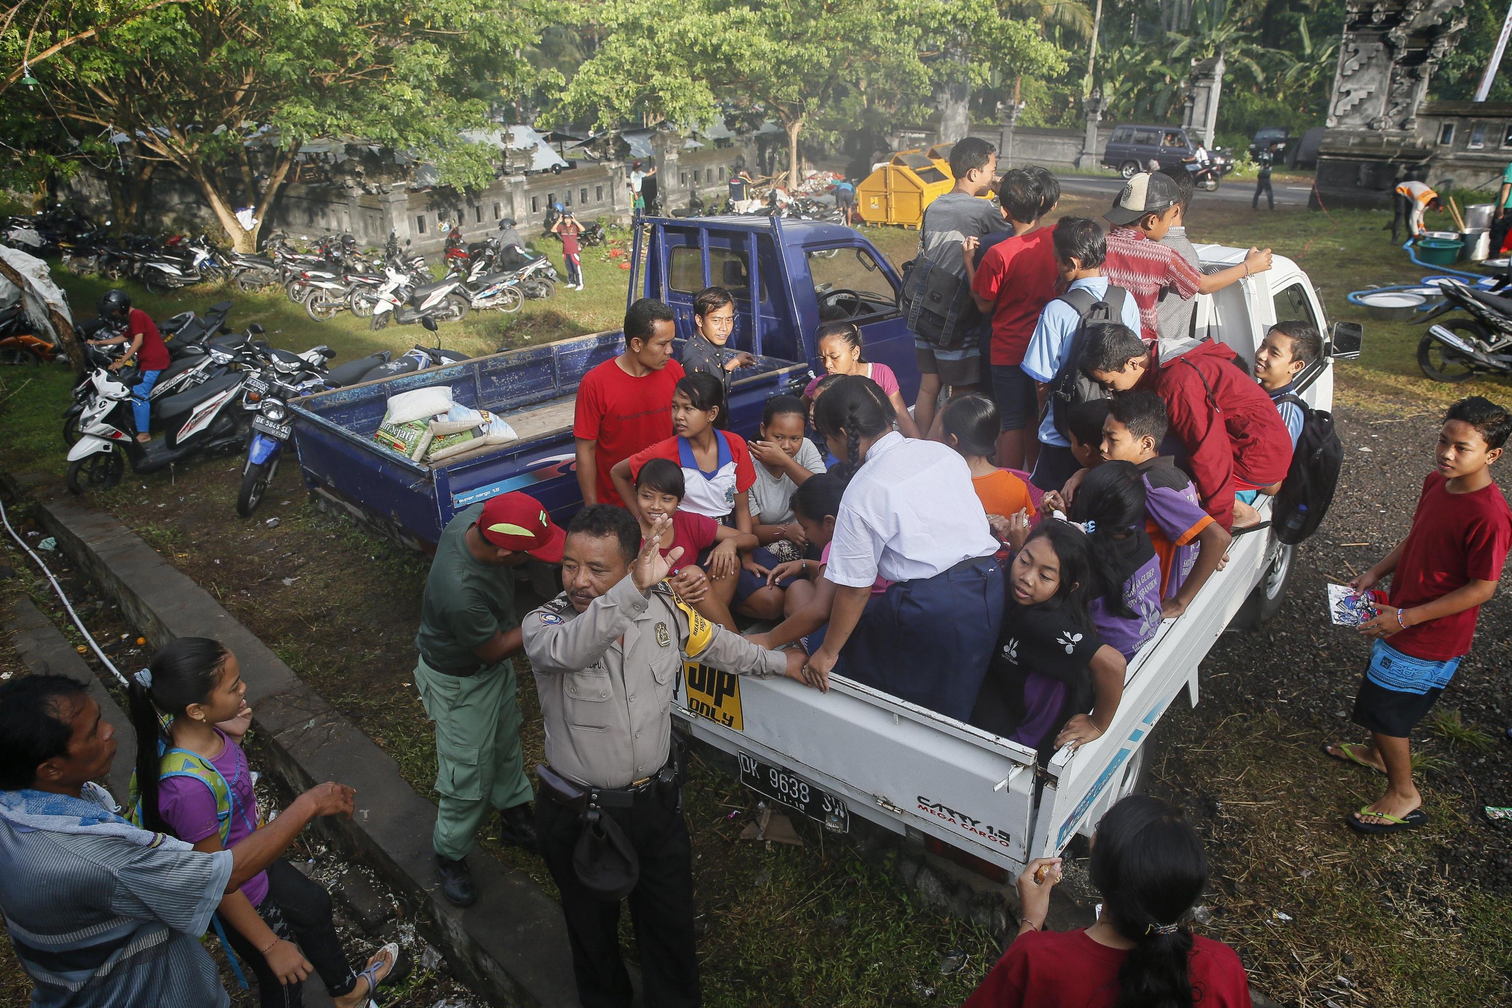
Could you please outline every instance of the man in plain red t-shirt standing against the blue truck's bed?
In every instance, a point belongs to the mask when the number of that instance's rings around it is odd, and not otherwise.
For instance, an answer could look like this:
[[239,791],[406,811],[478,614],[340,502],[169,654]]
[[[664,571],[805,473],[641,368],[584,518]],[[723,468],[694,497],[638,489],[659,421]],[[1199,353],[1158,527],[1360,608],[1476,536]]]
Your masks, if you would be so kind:
[[584,505],[623,508],[609,470],[671,437],[671,390],[683,375],[671,358],[676,334],[671,308],[641,298],[624,313],[624,352],[582,376],[572,432]]

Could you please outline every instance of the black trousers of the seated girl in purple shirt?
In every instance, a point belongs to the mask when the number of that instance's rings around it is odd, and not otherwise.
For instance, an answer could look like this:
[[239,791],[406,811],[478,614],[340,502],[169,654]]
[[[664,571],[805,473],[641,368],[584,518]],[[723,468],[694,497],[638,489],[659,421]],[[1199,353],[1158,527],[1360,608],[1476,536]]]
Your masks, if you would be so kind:
[[[274,861],[268,866],[268,896],[257,908],[257,914],[274,929],[280,938],[293,942],[310,960],[310,966],[325,982],[325,990],[333,997],[349,994],[357,985],[357,973],[352,972],[342,952],[342,940],[336,935],[336,925],[331,922],[331,895],[304,877],[289,861]],[[221,926],[225,937],[242,961],[242,967],[251,967],[257,978],[257,996],[263,1008],[301,1008],[304,1005],[304,984],[278,982],[278,976],[268,969],[268,960],[242,934],[224,919]]]

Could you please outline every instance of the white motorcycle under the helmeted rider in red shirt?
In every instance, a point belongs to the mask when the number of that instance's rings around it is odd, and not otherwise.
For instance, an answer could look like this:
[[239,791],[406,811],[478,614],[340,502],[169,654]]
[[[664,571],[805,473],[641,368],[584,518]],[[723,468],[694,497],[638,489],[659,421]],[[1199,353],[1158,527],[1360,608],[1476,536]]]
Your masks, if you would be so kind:
[[[231,372],[168,397],[159,407],[165,434],[159,440],[136,440],[132,416],[132,384],[136,369],[109,370],[110,357],[86,348],[92,367],[91,396],[79,417],[79,441],[68,449],[65,484],[74,494],[107,490],[121,482],[127,465],[133,473],[154,473],[197,455],[234,450],[245,443],[249,422],[240,410],[243,372]],[[212,358],[231,364],[234,354],[212,348]]]

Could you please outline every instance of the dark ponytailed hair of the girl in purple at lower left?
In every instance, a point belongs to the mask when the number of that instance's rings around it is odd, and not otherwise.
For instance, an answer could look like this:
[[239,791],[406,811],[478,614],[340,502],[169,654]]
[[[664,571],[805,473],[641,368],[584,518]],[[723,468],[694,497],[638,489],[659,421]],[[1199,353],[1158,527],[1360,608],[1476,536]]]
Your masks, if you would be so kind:
[[221,679],[230,651],[210,638],[177,638],[153,657],[148,668],[132,676],[127,703],[136,731],[136,793],[142,802],[142,827],[166,830],[157,809],[163,739],[162,715],[178,716],[189,704],[204,703]]

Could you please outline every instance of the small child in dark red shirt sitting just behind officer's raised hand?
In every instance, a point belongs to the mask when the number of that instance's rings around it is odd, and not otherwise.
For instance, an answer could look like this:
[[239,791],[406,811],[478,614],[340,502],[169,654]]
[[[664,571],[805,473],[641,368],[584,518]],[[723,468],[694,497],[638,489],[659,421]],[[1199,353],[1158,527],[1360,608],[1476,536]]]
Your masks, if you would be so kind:
[[696,561],[705,556],[709,570],[730,571],[739,565],[739,550],[756,546],[756,536],[714,518],[682,509],[682,468],[667,458],[652,458],[635,475],[635,514],[641,523],[641,541],[652,533],[656,520],[671,515],[671,526],[662,532],[658,549],[662,556],[674,546],[682,547],[671,565],[671,586],[689,606],[706,620],[735,630],[730,615],[730,591],[735,583],[729,574],[718,583],[709,579],[705,567]]

